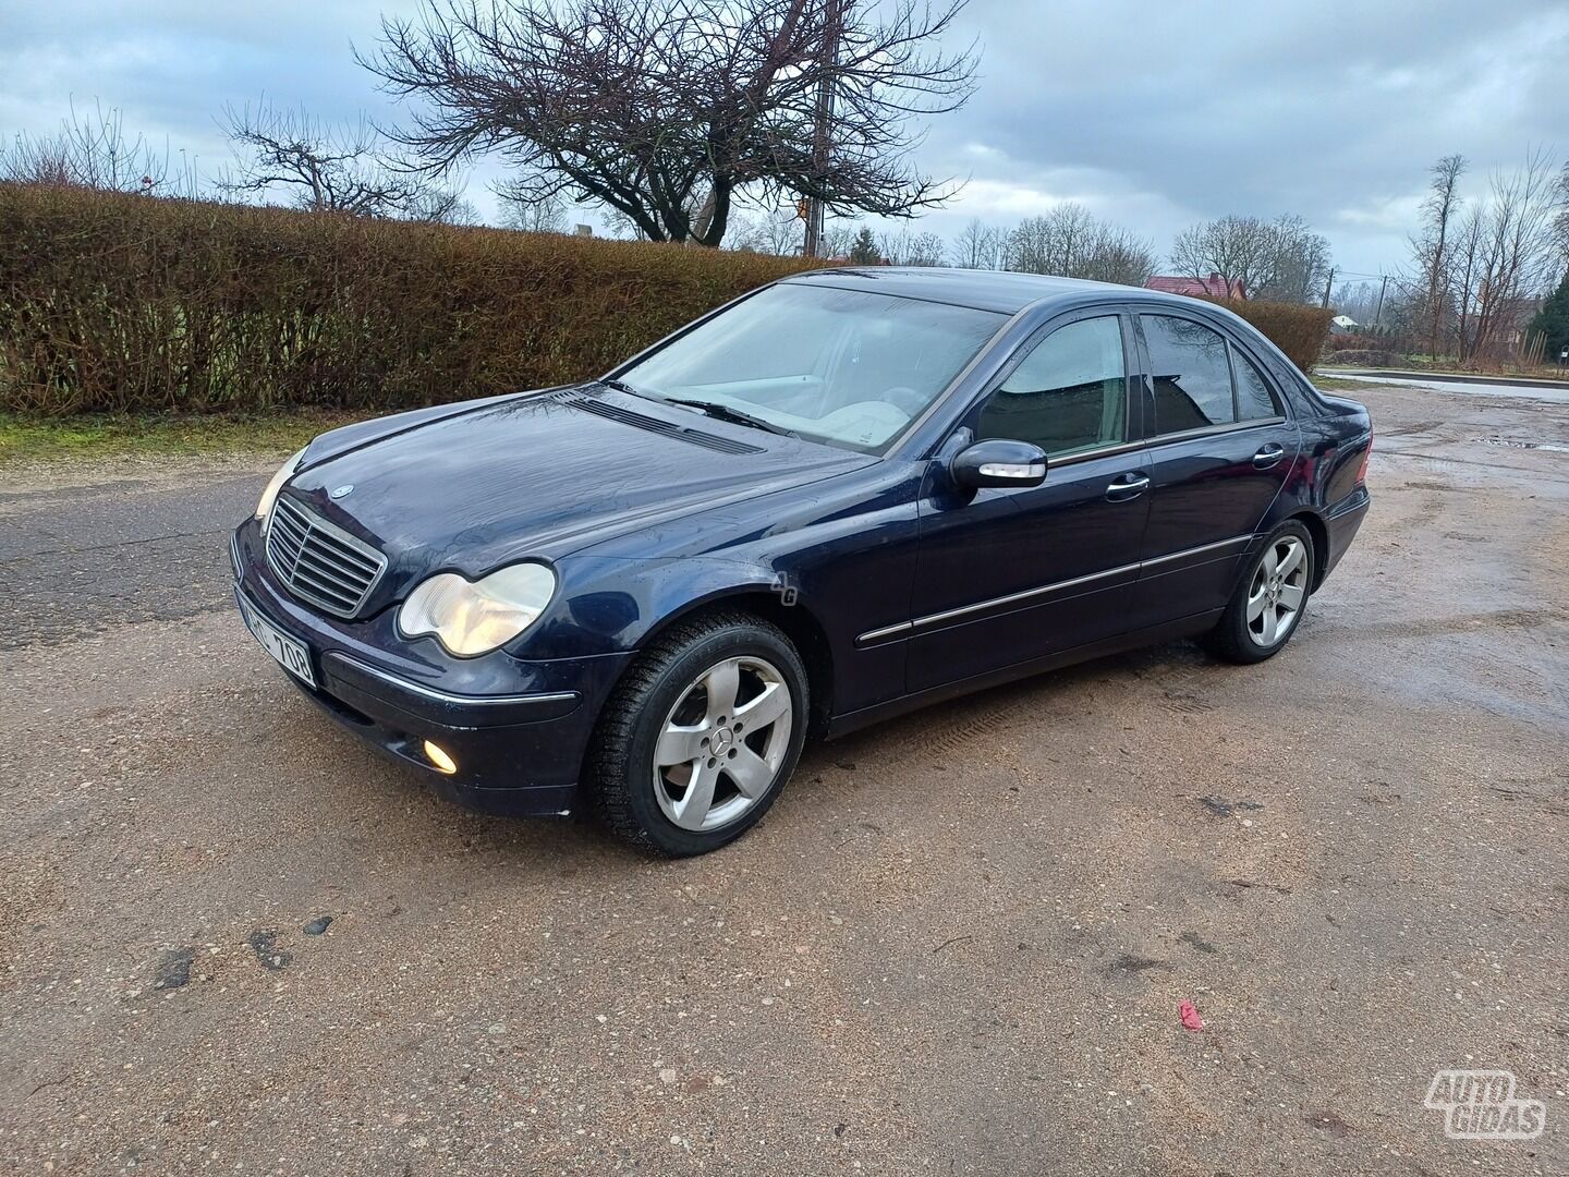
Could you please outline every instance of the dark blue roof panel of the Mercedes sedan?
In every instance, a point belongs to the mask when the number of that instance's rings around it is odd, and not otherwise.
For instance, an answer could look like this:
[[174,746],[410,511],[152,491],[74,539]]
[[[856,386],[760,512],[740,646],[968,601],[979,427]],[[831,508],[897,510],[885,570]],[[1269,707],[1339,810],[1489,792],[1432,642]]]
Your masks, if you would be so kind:
[[1081,278],[1051,278],[1037,273],[1012,273],[1007,270],[949,270],[941,267],[919,265],[844,265],[832,270],[808,270],[791,275],[786,282],[805,282],[811,286],[839,286],[855,290],[874,290],[879,293],[901,295],[904,298],[924,298],[934,303],[952,303],[954,306],[971,306],[977,311],[998,311],[1001,314],[1017,314],[1031,303],[1045,298],[1075,300],[1108,300],[1108,298],[1149,298],[1150,301],[1172,301],[1178,306],[1192,304],[1191,298],[1163,295],[1156,290],[1145,290],[1138,286],[1116,286],[1112,282],[1089,282]]

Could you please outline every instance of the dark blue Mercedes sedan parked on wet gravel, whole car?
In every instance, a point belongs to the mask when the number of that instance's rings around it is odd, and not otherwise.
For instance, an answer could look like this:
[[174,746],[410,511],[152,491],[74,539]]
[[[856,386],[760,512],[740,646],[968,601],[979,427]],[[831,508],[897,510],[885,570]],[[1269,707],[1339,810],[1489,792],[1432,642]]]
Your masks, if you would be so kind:
[[817,271],[601,380],[319,436],[234,532],[235,598],[446,796],[701,854],[808,736],[1147,642],[1271,658],[1371,444],[1218,306]]

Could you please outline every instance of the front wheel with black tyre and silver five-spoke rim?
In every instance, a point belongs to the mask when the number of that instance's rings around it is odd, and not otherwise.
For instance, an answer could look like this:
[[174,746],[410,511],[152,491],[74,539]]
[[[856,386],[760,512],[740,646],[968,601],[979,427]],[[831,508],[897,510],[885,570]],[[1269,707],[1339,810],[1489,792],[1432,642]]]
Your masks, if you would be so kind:
[[806,672],[789,639],[748,614],[700,618],[645,650],[610,695],[588,788],[632,844],[706,854],[763,819],[805,733]]

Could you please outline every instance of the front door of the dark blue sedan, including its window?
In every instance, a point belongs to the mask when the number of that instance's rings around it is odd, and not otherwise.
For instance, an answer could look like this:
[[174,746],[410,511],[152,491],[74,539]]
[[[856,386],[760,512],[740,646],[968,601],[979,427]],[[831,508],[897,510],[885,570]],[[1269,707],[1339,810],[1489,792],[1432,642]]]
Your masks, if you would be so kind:
[[[1150,496],[1130,441],[1130,322],[1058,320],[1020,348],[927,474],[908,687],[954,683],[1127,629]],[[1048,455],[1039,486],[960,493],[945,460],[1009,438]]]

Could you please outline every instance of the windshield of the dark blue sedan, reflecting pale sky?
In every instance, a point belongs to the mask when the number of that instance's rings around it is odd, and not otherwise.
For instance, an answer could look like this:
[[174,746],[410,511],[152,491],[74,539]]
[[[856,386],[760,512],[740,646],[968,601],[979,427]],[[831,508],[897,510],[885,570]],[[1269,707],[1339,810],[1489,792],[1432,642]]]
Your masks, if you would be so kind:
[[640,395],[712,405],[880,454],[1004,315],[830,286],[770,286],[620,374]]

